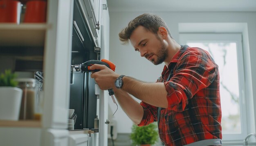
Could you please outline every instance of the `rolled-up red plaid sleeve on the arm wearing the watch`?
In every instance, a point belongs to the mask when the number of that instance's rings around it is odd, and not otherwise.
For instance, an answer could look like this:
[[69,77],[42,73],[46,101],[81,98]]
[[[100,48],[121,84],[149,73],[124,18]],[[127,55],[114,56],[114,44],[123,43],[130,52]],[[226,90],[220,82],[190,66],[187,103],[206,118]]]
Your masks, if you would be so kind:
[[164,82],[169,110],[184,111],[188,100],[213,82],[218,66],[210,58],[207,53],[193,48],[181,56],[173,77]]

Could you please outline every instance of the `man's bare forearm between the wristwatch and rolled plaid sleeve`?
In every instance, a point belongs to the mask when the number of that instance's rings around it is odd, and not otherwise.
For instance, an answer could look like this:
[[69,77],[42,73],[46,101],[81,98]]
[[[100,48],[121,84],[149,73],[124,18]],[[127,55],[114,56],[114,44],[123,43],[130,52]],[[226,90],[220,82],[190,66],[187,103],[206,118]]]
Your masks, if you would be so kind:
[[132,77],[123,77],[122,90],[153,106],[167,108],[167,91],[164,83],[145,83]]

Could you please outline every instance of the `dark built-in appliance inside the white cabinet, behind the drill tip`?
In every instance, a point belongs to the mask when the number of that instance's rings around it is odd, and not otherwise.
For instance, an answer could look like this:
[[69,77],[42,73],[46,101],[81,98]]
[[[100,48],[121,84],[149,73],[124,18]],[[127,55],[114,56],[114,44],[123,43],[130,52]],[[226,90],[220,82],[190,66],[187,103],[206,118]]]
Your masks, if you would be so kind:
[[[71,64],[97,60],[99,54],[94,51],[94,47],[95,43],[83,16],[81,5],[78,0],[74,0]],[[92,129],[97,114],[95,82],[90,77],[91,73],[73,70],[74,68],[72,68],[70,81],[70,108],[74,109],[77,115],[74,129]]]

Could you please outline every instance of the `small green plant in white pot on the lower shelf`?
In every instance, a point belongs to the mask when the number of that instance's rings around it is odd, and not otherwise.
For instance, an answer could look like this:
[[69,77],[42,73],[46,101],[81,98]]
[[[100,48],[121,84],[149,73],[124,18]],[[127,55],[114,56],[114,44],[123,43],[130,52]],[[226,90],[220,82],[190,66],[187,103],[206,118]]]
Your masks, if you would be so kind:
[[22,90],[17,88],[17,75],[5,70],[0,75],[0,120],[18,120]]

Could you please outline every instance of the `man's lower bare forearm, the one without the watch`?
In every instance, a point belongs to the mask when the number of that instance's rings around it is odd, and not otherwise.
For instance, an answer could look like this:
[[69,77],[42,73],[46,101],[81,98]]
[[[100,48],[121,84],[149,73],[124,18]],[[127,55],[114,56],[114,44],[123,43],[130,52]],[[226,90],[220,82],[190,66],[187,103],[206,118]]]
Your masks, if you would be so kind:
[[114,92],[115,97],[124,112],[135,124],[139,124],[144,114],[142,106],[127,92],[117,88],[114,88]]

